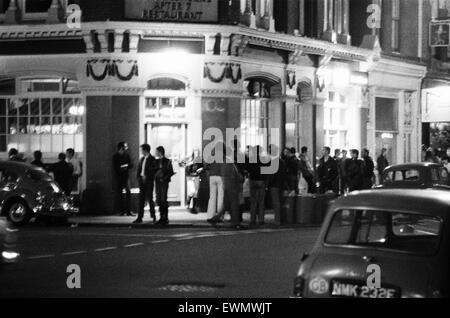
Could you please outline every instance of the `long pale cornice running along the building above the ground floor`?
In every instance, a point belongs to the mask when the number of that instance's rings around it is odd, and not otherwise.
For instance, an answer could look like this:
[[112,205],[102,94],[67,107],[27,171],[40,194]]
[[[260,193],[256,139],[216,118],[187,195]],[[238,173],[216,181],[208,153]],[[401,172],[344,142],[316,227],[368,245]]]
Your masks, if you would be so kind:
[[244,26],[217,24],[155,23],[133,21],[85,22],[80,29],[70,29],[66,24],[39,25],[1,25],[0,40],[23,40],[42,38],[83,38],[92,31],[104,34],[111,30],[130,32],[140,37],[179,36],[206,38],[220,33],[227,36],[239,36],[244,44],[281,49],[295,54],[332,55],[335,59],[352,61],[369,61],[377,59],[379,53],[342,44],[295,36],[290,34],[268,32]]

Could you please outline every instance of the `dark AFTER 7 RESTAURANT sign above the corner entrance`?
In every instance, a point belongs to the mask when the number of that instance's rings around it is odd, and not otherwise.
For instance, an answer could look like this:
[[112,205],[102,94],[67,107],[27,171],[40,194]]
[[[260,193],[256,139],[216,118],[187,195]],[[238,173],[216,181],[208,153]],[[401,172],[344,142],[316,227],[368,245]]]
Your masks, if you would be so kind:
[[125,0],[125,17],[164,22],[217,22],[219,0]]

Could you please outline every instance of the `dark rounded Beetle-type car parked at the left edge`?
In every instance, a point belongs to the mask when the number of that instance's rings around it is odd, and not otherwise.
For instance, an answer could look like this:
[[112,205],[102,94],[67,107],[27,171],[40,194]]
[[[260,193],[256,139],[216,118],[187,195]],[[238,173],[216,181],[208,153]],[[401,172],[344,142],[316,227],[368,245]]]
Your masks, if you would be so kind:
[[35,216],[65,219],[78,212],[43,169],[21,162],[0,162],[0,215],[15,225]]

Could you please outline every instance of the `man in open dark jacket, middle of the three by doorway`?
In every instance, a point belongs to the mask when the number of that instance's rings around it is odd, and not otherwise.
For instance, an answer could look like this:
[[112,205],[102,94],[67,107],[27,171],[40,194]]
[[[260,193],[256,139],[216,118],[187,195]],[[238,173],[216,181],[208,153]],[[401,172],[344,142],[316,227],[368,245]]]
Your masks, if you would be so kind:
[[144,218],[144,208],[146,201],[150,205],[150,216],[153,223],[156,223],[155,202],[153,202],[153,189],[156,173],[156,159],[150,154],[151,147],[148,144],[141,146],[142,158],[139,161],[137,179],[139,181],[139,211],[136,221],[140,224]]

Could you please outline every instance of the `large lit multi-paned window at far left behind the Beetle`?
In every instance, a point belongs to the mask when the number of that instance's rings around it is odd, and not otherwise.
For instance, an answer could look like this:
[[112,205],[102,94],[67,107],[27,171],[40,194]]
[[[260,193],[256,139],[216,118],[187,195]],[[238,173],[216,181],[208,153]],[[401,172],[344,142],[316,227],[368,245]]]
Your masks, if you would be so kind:
[[76,97],[0,98],[0,152],[82,152],[84,110]]

